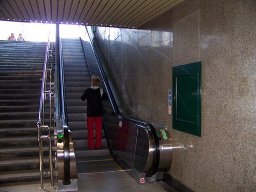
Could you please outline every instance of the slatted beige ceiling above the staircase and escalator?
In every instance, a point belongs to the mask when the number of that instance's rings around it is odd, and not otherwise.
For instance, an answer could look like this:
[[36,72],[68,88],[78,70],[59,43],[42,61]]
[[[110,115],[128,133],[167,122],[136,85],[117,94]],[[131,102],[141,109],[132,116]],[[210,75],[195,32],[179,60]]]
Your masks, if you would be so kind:
[[0,20],[137,29],[185,0],[0,0]]

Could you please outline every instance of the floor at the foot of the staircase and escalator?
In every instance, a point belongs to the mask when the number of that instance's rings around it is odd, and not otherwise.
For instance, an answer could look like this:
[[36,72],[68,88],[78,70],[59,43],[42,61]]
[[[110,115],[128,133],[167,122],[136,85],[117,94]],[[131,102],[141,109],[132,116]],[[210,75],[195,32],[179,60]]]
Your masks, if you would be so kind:
[[[160,183],[161,184],[161,183]],[[45,181],[44,191],[54,192],[50,189],[50,181]],[[0,186],[0,192],[34,192],[39,190],[40,182],[5,184]],[[78,175],[78,191],[132,191],[132,192],[166,192],[158,183],[138,184],[128,173],[106,172]],[[167,190],[170,191],[170,190]]]

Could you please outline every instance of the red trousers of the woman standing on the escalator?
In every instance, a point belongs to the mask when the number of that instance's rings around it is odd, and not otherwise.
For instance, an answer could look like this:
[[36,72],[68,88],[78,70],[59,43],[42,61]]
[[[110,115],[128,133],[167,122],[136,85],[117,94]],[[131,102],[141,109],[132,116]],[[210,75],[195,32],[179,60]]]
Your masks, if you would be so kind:
[[[95,133],[96,133],[96,143],[94,145],[94,134],[93,134],[93,125],[95,123]],[[100,149],[101,146],[101,125],[102,125],[102,116],[97,117],[87,117],[87,127],[88,127],[88,146],[90,149]]]

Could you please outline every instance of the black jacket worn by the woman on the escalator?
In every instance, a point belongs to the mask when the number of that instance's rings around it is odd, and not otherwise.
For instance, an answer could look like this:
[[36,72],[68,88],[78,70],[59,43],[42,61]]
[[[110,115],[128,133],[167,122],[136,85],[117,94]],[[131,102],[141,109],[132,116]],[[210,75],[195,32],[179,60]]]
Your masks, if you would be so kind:
[[87,116],[96,117],[103,116],[102,100],[108,100],[108,95],[103,91],[102,97],[100,95],[100,88],[88,88],[81,96],[81,100],[87,100]]

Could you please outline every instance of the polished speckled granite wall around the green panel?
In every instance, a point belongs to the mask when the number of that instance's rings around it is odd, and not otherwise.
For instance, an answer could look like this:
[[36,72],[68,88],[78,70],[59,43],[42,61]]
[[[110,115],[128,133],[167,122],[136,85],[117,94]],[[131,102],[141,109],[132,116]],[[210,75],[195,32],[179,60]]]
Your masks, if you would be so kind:
[[[140,29],[97,28],[127,109],[165,125],[169,174],[199,191],[256,191],[256,1],[187,0]],[[172,67],[202,62],[202,136],[172,129]]]

